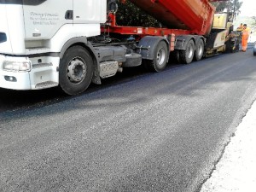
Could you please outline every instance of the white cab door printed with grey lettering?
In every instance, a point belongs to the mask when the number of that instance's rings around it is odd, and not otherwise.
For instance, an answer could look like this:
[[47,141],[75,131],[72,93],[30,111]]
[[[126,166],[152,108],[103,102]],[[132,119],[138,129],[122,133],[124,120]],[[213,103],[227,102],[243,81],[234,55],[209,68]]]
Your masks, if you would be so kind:
[[27,40],[50,39],[73,23],[73,0],[23,0],[23,10]]

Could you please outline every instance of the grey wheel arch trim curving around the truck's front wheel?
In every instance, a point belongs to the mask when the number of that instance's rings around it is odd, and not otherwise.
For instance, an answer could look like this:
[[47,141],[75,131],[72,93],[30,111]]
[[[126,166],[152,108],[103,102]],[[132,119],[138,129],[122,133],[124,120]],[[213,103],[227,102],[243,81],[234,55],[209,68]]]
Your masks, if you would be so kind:
[[93,49],[93,46],[90,44],[90,42],[87,40],[86,37],[78,37],[78,38],[72,38],[69,39],[62,47],[61,53],[60,53],[60,59],[63,57],[65,52],[67,51],[68,48],[70,48],[73,45],[80,44],[82,45],[85,49],[87,49],[90,52],[90,55],[93,60],[93,66],[94,66],[94,73],[93,73],[93,78],[92,82],[94,84],[101,84],[101,78],[100,78],[100,65],[99,61],[96,56],[96,52]]

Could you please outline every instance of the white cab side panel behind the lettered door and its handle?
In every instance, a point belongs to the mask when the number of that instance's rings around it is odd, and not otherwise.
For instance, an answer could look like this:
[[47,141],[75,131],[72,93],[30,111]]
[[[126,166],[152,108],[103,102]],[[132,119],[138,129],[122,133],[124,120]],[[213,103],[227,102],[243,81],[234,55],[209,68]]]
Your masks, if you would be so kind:
[[106,0],[73,0],[74,23],[104,23]]

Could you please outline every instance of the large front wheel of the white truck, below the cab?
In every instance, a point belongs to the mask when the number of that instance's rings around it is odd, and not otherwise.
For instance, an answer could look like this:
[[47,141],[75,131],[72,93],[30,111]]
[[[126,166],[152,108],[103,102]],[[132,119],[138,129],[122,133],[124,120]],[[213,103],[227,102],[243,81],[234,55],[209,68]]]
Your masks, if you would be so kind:
[[88,88],[93,75],[93,61],[86,49],[73,46],[60,61],[61,89],[68,95],[77,95]]

